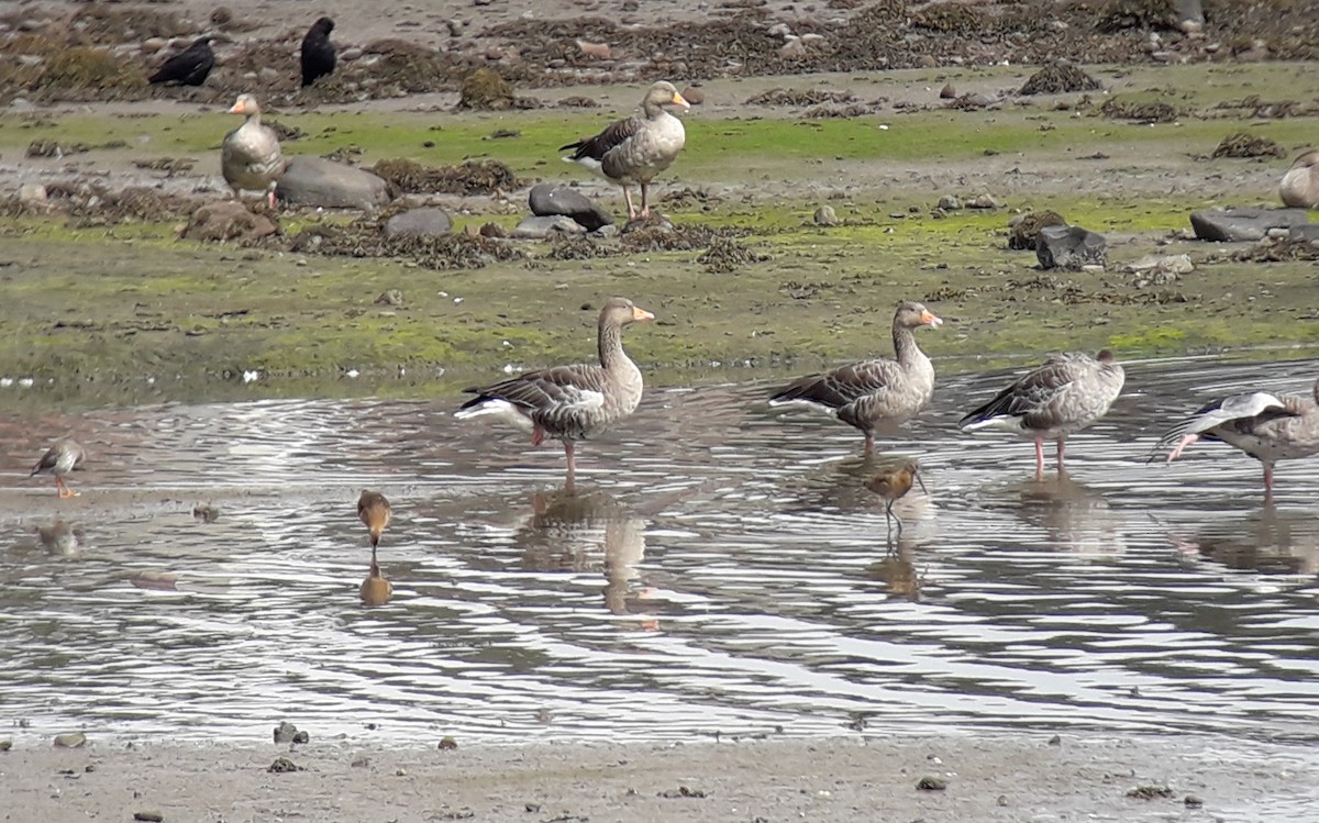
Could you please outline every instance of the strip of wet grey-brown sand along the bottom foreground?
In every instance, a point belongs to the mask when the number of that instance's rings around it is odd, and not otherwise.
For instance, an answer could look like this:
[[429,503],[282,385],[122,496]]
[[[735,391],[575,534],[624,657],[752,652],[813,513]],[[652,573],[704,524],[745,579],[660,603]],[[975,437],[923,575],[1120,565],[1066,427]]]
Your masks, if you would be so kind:
[[[868,731],[871,733],[871,731]],[[36,740],[0,756],[7,820],[1301,820],[1312,749],[1049,735],[439,750]],[[400,743],[402,747],[404,744]],[[288,757],[301,770],[272,773]],[[942,790],[921,790],[931,777]],[[1140,787],[1167,789],[1150,799]],[[1191,798],[1190,802],[1187,798]],[[1203,803],[1203,806],[1200,806]],[[20,811],[21,810],[21,811]]]

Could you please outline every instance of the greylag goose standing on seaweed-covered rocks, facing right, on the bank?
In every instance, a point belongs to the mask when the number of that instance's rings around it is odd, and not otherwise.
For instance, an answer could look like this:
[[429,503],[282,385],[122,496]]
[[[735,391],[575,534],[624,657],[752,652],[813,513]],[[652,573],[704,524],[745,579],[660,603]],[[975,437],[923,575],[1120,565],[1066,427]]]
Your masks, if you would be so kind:
[[[646,90],[641,99],[641,113],[611,123],[595,137],[587,137],[566,146],[572,154],[563,160],[582,164],[605,179],[623,186],[623,199],[628,203],[628,219],[650,215],[648,186],[657,174],[667,169],[687,140],[682,120],[670,115],[665,106],[683,109],[691,106],[682,99],[673,83],[660,80]],[[628,183],[641,186],[641,211],[632,206]]]

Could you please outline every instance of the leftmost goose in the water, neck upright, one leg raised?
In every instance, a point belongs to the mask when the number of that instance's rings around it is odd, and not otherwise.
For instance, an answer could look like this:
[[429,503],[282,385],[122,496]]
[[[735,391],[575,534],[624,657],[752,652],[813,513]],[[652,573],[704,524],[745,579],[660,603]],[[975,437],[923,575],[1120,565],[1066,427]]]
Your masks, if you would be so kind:
[[464,402],[454,417],[497,414],[530,431],[533,446],[546,438],[562,441],[571,489],[576,475],[574,444],[632,414],[641,402],[641,369],[623,351],[623,327],[653,319],[653,314],[632,301],[615,297],[600,310],[599,365],[557,365],[491,386],[464,389],[476,397]]

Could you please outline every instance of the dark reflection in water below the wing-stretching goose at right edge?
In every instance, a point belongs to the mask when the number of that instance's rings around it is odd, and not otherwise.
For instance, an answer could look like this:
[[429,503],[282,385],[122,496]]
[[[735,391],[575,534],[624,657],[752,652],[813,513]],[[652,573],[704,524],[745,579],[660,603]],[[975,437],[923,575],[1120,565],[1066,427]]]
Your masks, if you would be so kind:
[[1279,575],[1319,574],[1319,522],[1303,510],[1272,505],[1241,520],[1213,522],[1190,535],[1170,533],[1181,551],[1228,568]]

